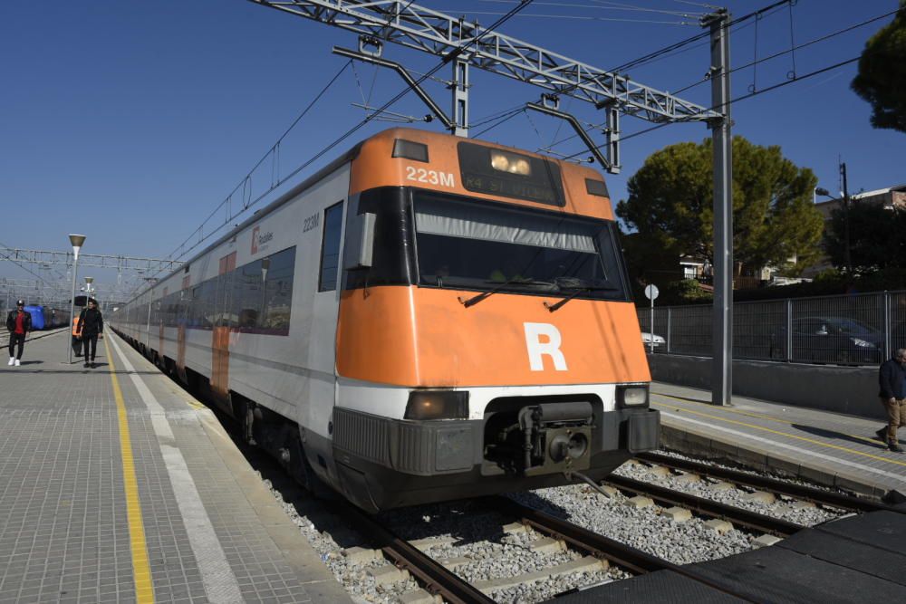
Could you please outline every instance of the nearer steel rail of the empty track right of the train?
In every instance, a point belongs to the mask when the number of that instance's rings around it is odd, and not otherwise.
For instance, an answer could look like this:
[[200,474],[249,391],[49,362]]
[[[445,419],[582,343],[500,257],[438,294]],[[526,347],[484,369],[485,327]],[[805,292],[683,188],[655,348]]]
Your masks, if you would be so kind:
[[693,512],[720,518],[721,520],[727,520],[730,523],[744,526],[755,531],[769,532],[779,537],[786,537],[806,528],[801,524],[790,523],[778,518],[771,518],[762,513],[749,512],[748,510],[743,510],[726,503],[711,501],[704,497],[671,491],[670,489],[665,489],[657,484],[643,483],[638,480],[632,480],[631,478],[610,475],[603,482],[604,484],[611,484],[621,491],[646,495],[657,503],[679,505],[688,508]]

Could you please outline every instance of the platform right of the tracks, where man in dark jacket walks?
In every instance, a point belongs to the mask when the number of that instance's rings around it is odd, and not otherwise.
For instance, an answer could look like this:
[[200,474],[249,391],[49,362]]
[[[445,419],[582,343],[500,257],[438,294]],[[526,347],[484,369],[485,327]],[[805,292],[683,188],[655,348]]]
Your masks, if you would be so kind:
[[[874,394],[865,397],[880,407]],[[889,503],[906,501],[906,454],[878,440],[881,420],[737,396],[732,406],[710,400],[708,390],[653,382],[651,407],[660,410],[661,445]],[[898,436],[906,442],[906,428]]]

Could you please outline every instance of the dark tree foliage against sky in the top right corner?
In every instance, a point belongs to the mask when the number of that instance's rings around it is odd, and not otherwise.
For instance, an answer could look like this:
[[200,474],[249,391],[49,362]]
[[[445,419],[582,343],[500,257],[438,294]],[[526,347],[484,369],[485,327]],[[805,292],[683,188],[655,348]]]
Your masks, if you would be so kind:
[[872,105],[872,126],[906,132],[906,0],[865,43],[853,91]]

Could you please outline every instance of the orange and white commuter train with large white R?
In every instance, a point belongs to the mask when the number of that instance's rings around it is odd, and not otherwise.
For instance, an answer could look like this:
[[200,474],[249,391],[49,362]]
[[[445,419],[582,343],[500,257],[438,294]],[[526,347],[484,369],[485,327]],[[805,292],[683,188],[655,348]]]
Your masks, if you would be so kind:
[[603,177],[496,143],[375,134],[108,322],[372,513],[600,480],[659,446]]

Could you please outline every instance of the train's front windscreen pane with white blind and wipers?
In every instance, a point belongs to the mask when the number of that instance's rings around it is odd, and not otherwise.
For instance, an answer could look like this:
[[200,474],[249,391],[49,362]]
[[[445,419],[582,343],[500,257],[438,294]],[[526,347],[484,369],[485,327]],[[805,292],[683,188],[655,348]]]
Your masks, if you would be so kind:
[[626,300],[614,225],[413,192],[419,284]]

